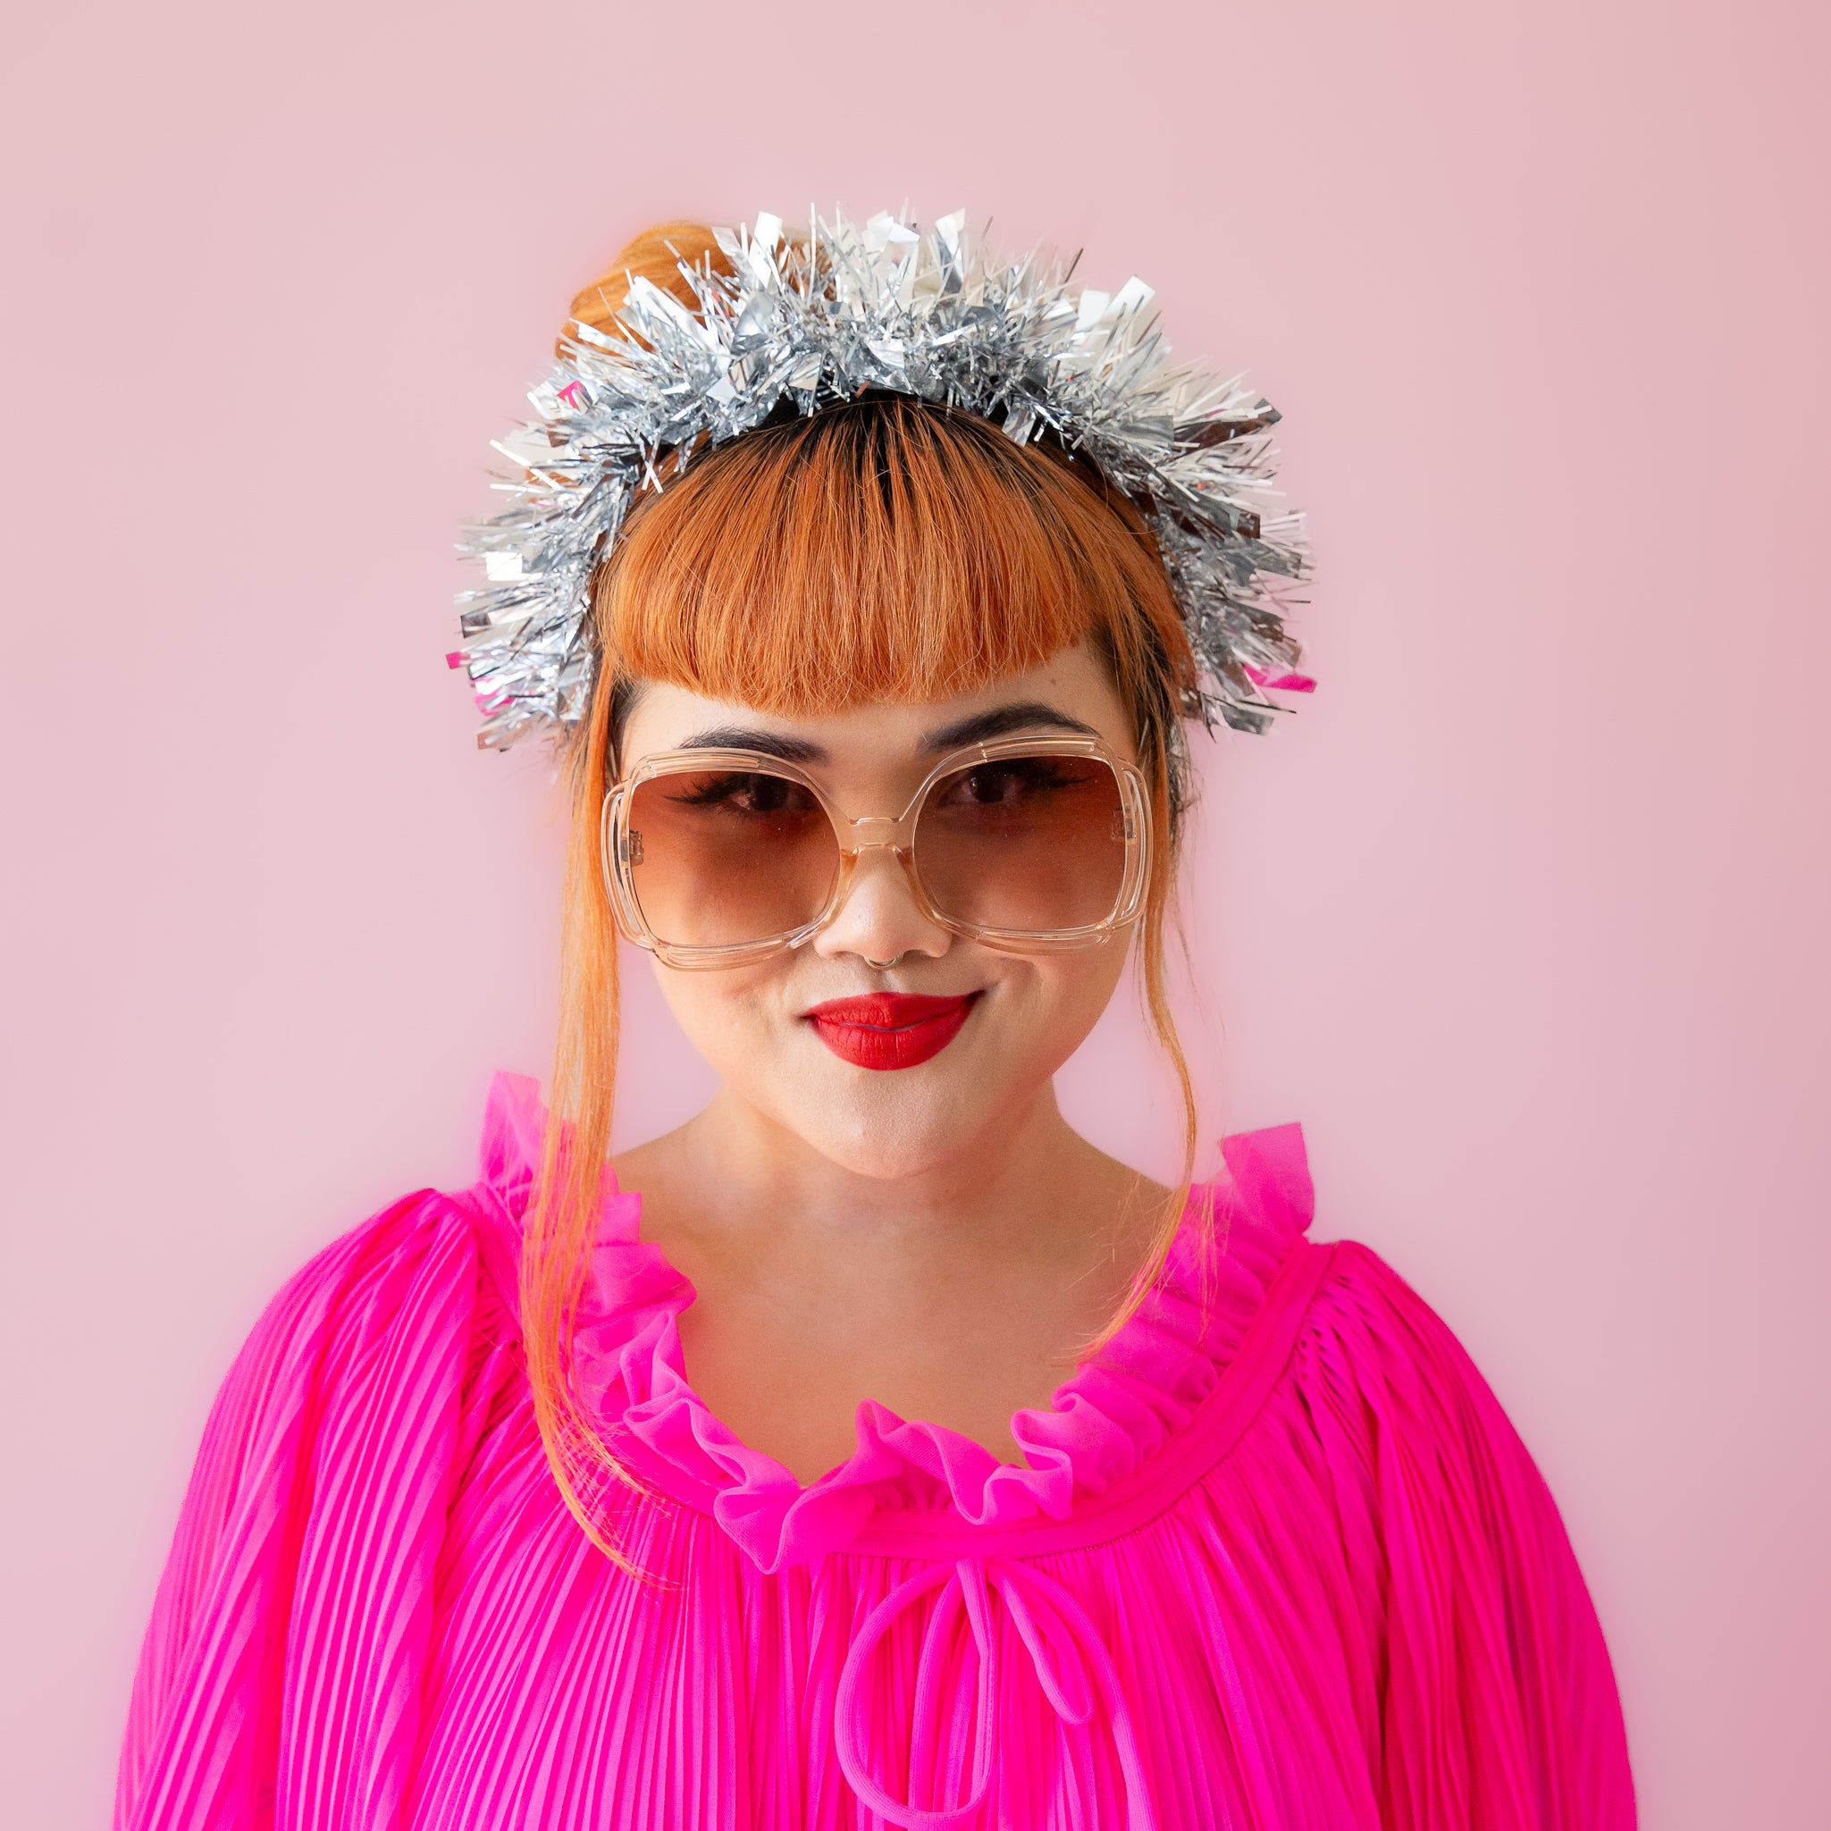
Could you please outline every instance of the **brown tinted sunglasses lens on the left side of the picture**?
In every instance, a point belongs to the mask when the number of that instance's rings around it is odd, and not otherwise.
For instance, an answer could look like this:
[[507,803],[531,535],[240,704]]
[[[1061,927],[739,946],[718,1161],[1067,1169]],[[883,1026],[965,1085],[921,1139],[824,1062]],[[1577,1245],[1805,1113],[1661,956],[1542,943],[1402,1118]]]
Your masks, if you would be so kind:
[[833,894],[839,840],[785,776],[696,769],[630,795],[630,883],[672,947],[742,947],[813,921]]

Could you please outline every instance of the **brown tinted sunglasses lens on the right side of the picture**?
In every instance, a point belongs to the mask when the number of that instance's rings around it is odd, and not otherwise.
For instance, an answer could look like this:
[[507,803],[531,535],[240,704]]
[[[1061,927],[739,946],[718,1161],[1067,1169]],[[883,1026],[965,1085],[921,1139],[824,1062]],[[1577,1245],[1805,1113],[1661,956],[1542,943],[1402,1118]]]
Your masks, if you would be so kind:
[[936,910],[981,928],[1089,928],[1126,873],[1119,778],[1095,756],[1011,756],[945,776],[916,824]]

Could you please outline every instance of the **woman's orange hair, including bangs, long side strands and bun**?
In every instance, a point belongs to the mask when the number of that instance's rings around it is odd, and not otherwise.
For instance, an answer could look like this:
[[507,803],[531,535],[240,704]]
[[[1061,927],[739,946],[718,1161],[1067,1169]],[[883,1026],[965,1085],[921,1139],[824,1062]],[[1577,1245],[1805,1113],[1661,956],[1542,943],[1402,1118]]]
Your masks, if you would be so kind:
[[[677,262],[725,269],[712,233],[637,236],[575,300],[623,335],[628,275],[692,304]],[[597,676],[573,745],[562,1011],[546,1163],[522,1262],[527,1373],[547,1459],[591,1538],[606,1481],[630,1476],[579,1406],[573,1311],[599,1225],[617,1066],[617,928],[599,806],[630,685],[668,681],[789,716],[970,692],[1080,641],[1106,657],[1152,796],[1139,925],[1144,1003],[1183,1093],[1183,1190],[1100,1342],[1157,1274],[1186,1199],[1196,1100],[1165,989],[1183,809],[1181,712],[1196,663],[1139,511],[1062,450],[970,414],[872,395],[784,414],[699,454],[630,513],[593,591]],[[1095,1344],[1099,1346],[1099,1344]]]

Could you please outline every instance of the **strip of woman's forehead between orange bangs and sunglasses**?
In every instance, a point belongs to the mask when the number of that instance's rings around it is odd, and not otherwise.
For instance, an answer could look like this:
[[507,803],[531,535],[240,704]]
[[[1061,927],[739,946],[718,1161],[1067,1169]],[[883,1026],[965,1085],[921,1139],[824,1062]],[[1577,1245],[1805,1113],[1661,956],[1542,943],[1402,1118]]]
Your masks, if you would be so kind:
[[[1002,729],[992,729],[1002,721]],[[1132,721],[1106,665],[1086,645],[1064,648],[1040,666],[1007,674],[972,692],[899,705],[861,705],[809,718],[764,712],[710,699],[665,681],[639,683],[624,720],[624,764],[718,734],[749,747],[745,734],[787,740],[802,762],[839,769],[923,764],[959,743],[1027,731],[1086,731],[1121,754],[1133,753]],[[775,745],[771,745],[775,749]]]

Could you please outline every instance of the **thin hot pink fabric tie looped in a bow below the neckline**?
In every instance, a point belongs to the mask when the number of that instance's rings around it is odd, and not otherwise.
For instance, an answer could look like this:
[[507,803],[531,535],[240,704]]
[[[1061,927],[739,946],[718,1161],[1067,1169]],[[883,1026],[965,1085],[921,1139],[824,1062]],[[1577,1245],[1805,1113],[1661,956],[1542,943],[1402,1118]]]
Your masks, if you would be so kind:
[[[923,1630],[921,1657],[916,1666],[916,1696],[910,1721],[910,1772],[925,1772],[941,1734],[945,1705],[954,1692],[947,1685],[948,1644],[961,1611],[978,1653],[974,1685],[972,1756],[965,1776],[958,1769],[948,1778],[963,1778],[967,1796],[956,1805],[923,1807],[892,1798],[872,1772],[866,1743],[872,1734],[873,1692],[866,1686],[872,1655],[879,1641],[908,1608],[939,1589],[941,1597]],[[905,1831],[963,1831],[985,1805],[992,1787],[1000,1663],[998,1633],[992,1619],[992,1593],[1003,1600],[1018,1641],[1031,1657],[1036,1683],[1055,1714],[1080,1728],[1093,1719],[1095,1705],[1106,1708],[1119,1772],[1126,1789],[1126,1826],[1130,1831],[1157,1831],[1150,1804],[1144,1761],[1137,1730],[1119,1683],[1119,1668],[1088,1611],[1053,1576],[1014,1558],[961,1558],[934,1564],[897,1584],[864,1617],[859,1637],[846,1653],[839,1674],[833,1710],[833,1743],[839,1767],[861,1804],[903,1826]],[[914,1791],[914,1789],[912,1789]]]

